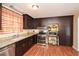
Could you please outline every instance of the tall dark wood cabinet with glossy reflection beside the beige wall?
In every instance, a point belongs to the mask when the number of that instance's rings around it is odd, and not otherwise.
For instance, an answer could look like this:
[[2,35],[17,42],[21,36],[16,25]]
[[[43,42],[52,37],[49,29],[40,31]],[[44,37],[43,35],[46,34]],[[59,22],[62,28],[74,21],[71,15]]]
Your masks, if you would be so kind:
[[60,18],[60,45],[73,45],[73,16],[67,16]]

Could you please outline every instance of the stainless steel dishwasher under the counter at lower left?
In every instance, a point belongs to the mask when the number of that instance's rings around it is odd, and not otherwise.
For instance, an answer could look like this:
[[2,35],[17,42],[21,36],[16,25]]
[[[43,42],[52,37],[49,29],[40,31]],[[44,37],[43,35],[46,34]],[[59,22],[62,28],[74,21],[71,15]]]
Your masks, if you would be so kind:
[[0,56],[15,56],[15,44],[0,49]]

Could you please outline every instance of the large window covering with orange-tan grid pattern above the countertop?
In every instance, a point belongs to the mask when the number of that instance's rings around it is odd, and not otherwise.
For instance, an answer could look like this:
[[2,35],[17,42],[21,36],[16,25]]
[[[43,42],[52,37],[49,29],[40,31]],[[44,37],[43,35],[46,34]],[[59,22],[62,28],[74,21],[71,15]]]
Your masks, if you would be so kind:
[[23,16],[7,8],[2,8],[2,31],[3,32],[22,32]]

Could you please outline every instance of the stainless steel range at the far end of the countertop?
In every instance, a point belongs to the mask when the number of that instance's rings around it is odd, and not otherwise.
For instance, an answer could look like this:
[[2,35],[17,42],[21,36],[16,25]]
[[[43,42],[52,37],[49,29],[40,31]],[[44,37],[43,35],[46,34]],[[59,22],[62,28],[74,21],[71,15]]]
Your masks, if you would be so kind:
[[38,29],[40,30],[37,37],[38,44],[48,45],[48,29],[46,27],[39,27]]

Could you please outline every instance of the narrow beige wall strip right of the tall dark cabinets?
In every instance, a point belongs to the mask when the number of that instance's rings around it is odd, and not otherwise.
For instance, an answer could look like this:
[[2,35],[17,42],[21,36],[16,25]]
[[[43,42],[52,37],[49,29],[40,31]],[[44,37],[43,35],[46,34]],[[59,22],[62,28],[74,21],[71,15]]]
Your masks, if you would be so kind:
[[74,15],[73,20],[73,48],[78,49],[78,16]]

